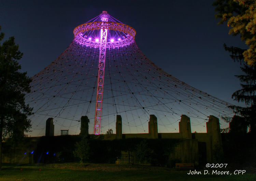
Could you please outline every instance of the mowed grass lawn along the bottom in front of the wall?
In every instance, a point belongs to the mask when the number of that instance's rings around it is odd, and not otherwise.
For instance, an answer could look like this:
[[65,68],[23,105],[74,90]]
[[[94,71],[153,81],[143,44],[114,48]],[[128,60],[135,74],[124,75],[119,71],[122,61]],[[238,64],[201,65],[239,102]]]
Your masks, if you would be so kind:
[[[197,170],[199,171],[199,170]],[[171,168],[115,165],[115,164],[3,164],[0,181],[16,180],[256,180],[256,174],[243,175],[188,175],[189,170],[177,171]],[[210,173],[210,170],[209,170]],[[233,172],[232,172],[233,173]]]

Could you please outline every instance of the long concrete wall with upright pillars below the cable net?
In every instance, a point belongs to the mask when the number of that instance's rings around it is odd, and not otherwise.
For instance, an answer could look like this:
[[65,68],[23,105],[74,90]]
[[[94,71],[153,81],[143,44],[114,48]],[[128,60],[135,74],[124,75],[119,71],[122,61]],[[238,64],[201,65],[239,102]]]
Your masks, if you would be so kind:
[[[81,117],[82,126],[81,134],[88,134],[88,117]],[[46,135],[51,136],[54,132],[53,119],[49,118],[46,121]],[[216,151],[223,152],[222,138],[219,120],[217,117],[210,115],[209,121],[206,123],[207,133],[191,133],[190,118],[186,115],[181,116],[179,122],[179,133],[158,133],[157,117],[150,115],[150,121],[148,122],[148,133],[141,134],[122,134],[122,117],[117,115],[116,117],[116,134],[103,134],[103,135],[91,135],[91,137],[104,138],[105,140],[114,139],[126,139],[126,138],[146,138],[146,139],[179,139],[178,145],[174,148],[174,152],[170,155],[170,158],[176,161],[176,163],[194,163],[200,164],[198,158],[198,142],[203,142],[206,145],[206,160],[207,162],[214,161],[213,153]],[[31,141],[37,142],[37,137],[31,138]],[[204,146],[205,147],[205,146]],[[217,150],[218,149],[218,150]],[[24,153],[23,153],[24,154]],[[21,154],[22,155],[22,154]],[[11,156],[12,157],[12,156]],[[11,160],[8,155],[3,155],[2,162],[16,162],[17,160]],[[23,158],[25,162],[29,162],[29,159]],[[30,159],[31,160],[31,159]]]

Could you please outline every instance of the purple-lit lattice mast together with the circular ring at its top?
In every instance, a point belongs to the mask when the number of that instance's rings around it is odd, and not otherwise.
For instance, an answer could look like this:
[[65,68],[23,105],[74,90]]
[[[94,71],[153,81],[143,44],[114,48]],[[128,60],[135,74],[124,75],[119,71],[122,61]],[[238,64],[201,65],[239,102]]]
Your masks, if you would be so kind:
[[[82,46],[99,48],[94,134],[100,134],[106,49],[129,46],[134,42],[136,32],[128,25],[116,22],[116,19],[106,11],[103,11],[93,22],[91,21],[77,26],[74,35],[75,41]],[[100,35],[98,35],[97,30],[100,30]]]

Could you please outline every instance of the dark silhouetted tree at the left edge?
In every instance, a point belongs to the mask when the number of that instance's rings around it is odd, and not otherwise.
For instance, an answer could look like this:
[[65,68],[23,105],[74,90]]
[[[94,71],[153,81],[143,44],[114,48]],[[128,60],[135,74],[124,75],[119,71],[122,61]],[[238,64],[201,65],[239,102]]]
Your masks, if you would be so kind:
[[[1,33],[0,41],[3,37]],[[19,71],[21,66],[17,60],[22,58],[23,53],[18,48],[14,37],[0,44],[0,169],[3,139],[18,141],[31,127],[27,116],[31,115],[32,108],[25,104],[25,94],[30,92],[32,79],[26,75],[27,72]]]

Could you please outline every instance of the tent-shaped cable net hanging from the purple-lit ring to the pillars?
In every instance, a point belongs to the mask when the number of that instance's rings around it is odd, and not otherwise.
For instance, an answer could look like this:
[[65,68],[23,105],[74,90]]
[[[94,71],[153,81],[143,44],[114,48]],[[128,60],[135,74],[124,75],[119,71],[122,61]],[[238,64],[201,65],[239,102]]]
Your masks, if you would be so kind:
[[[112,17],[108,20],[111,21],[93,22],[101,27],[96,29],[91,25],[90,32],[76,28],[70,46],[32,77],[31,93],[26,95],[26,103],[33,107],[29,136],[43,136],[49,117],[54,120],[55,135],[62,129],[69,130],[69,134],[79,134],[81,116],[84,115],[90,120],[89,133],[93,133],[96,101],[99,100],[102,101],[99,132],[102,134],[108,129],[115,133],[116,115],[122,116],[123,133],[148,133],[151,114],[157,117],[158,132],[179,132],[178,122],[182,114],[190,117],[193,132],[206,132],[205,122],[209,115],[218,117],[222,128],[228,127],[221,118],[233,116],[227,108],[229,103],[158,68],[137,47],[134,29],[124,24],[121,26],[129,30],[114,29],[111,23],[121,23]],[[106,35],[104,44],[100,33],[106,29],[110,34]],[[123,39],[121,35],[124,35]],[[103,49],[104,89],[102,87],[102,99],[98,99]]]

